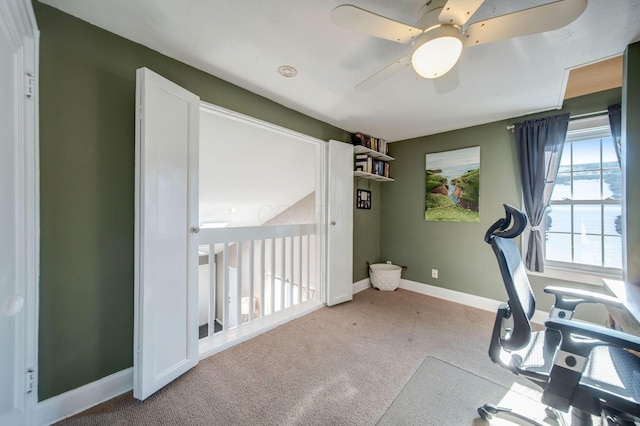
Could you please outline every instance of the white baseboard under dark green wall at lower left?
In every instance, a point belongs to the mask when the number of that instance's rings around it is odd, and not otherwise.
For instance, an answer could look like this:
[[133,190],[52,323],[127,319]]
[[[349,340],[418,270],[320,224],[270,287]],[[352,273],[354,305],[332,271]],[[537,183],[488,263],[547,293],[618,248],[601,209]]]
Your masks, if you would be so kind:
[[34,425],[50,425],[133,389],[133,367],[38,403]]

